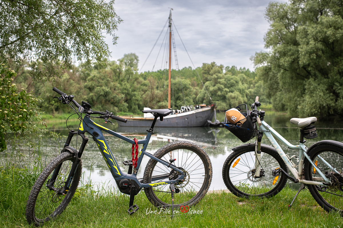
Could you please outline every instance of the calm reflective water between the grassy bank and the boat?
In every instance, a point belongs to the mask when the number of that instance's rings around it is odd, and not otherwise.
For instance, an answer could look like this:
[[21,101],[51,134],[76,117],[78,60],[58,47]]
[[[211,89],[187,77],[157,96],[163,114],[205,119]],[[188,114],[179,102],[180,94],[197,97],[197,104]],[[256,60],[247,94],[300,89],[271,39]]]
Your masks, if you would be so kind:
[[[217,118],[220,121],[224,120],[224,113],[217,113]],[[299,141],[299,129],[296,125],[289,123],[289,117],[282,114],[274,114],[273,112],[268,113],[265,117],[265,121],[272,126],[276,131],[278,131],[282,136],[285,137],[292,144],[297,144]],[[109,123],[102,122],[96,119],[97,123],[104,125],[107,128],[120,132],[127,137],[137,139],[144,139],[146,133],[146,128],[116,128],[111,126]],[[72,126],[77,127],[77,126]],[[309,147],[315,142],[320,140],[336,140],[343,141],[343,130],[332,129],[332,128],[342,128],[343,124],[340,121],[327,121],[327,122],[317,122],[316,123],[318,137],[316,139],[307,140],[306,146]],[[322,129],[328,128],[328,129]],[[77,129],[77,128],[74,128]],[[69,130],[56,130],[63,135],[67,135]],[[212,167],[213,167],[213,178],[210,186],[210,190],[220,190],[226,189],[225,184],[222,179],[222,167],[227,156],[232,152],[231,148],[243,144],[239,139],[237,139],[232,133],[223,128],[155,128],[155,134],[152,136],[149,146],[147,147],[147,152],[154,154],[160,147],[168,144],[168,142],[173,142],[175,140],[188,140],[199,144],[210,156]],[[119,140],[115,136],[105,134],[106,141],[108,142],[111,151],[113,152],[120,168],[127,172],[127,166],[122,164],[122,161],[131,160],[131,146],[123,140]],[[76,137],[71,144],[75,147]],[[48,163],[53,157],[57,156],[61,151],[61,146],[64,145],[66,139],[58,141],[54,139],[45,139],[43,162]],[[251,140],[250,142],[253,142]],[[249,142],[247,142],[249,143]],[[263,139],[262,143],[270,145],[268,140]],[[78,147],[81,145],[81,137],[78,139]],[[297,155],[298,152],[288,149],[281,145],[284,152],[289,156]],[[29,161],[33,159],[28,150],[23,149],[22,153],[25,155],[25,160]],[[4,154],[2,154],[2,159],[4,159]],[[141,168],[138,172],[138,177],[142,178],[145,165],[148,162],[148,157],[144,156],[141,164]],[[83,163],[83,180],[87,181],[91,179],[93,183],[102,185],[105,184],[108,187],[113,185],[116,187],[116,183],[108,170],[108,167],[100,154],[100,151],[92,138],[88,141],[85,151],[82,155]],[[299,188],[300,185],[290,183],[292,188]]]

